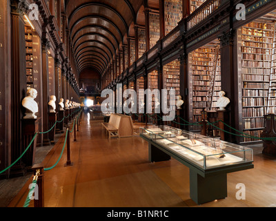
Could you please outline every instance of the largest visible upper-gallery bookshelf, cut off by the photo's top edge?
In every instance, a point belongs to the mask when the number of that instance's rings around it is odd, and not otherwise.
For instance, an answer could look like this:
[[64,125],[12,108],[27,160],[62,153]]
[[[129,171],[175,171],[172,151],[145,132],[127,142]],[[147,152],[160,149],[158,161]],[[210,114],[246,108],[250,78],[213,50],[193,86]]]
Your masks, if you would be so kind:
[[173,30],[182,19],[182,1],[165,1],[165,34]]

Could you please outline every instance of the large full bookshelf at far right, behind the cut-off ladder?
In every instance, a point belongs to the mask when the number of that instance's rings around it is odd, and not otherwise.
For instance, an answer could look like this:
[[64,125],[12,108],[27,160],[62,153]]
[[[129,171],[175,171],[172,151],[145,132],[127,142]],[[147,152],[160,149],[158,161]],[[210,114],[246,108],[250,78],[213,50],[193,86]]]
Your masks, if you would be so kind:
[[[261,137],[267,113],[273,53],[274,23],[255,20],[238,30],[239,55],[242,57],[242,130]],[[242,142],[256,142],[244,137]]]

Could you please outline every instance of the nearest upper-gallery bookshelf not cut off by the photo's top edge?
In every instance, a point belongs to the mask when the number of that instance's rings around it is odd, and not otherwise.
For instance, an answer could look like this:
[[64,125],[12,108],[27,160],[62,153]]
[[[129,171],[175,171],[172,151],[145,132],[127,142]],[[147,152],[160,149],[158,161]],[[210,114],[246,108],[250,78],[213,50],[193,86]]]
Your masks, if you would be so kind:
[[150,48],[155,46],[157,41],[160,39],[160,21],[159,14],[150,13]]

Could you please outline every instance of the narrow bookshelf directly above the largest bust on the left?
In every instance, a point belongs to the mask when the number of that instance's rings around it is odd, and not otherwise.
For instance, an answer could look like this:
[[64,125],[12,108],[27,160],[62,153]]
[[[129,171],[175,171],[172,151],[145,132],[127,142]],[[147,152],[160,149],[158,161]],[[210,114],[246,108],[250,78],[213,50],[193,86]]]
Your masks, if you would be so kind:
[[25,41],[26,41],[26,79],[27,89],[33,88],[34,75],[33,75],[33,49],[32,49],[32,28],[25,26]]

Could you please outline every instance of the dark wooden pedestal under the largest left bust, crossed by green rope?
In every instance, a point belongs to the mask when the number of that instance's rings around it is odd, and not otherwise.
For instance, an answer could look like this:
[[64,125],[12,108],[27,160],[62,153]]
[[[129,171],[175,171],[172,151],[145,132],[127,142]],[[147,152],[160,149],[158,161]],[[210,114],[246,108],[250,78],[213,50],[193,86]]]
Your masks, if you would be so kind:
[[[22,153],[29,146],[30,142],[34,138],[34,134],[39,131],[39,121],[37,119],[22,119]],[[38,136],[38,135],[37,135]],[[37,137],[34,138],[34,142],[28,149],[25,155],[23,155],[22,161],[26,164],[27,169],[31,169],[34,164],[35,151],[37,149]]]

